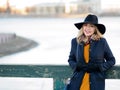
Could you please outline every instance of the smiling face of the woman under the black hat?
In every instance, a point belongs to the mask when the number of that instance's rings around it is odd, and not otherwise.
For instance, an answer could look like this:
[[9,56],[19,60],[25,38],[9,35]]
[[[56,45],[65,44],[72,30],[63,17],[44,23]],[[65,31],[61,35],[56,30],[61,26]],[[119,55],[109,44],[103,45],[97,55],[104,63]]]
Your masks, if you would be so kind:
[[86,23],[83,24],[83,33],[86,37],[90,37],[95,32],[95,25]]

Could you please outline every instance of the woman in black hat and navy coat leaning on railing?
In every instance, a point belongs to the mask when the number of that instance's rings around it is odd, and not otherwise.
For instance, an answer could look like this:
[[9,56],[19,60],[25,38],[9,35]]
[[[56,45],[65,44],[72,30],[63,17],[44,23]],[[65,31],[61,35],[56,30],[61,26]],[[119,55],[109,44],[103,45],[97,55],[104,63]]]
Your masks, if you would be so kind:
[[74,73],[67,90],[105,90],[105,72],[115,64],[112,51],[103,38],[106,28],[92,14],[75,26],[79,33],[71,41],[68,62]]

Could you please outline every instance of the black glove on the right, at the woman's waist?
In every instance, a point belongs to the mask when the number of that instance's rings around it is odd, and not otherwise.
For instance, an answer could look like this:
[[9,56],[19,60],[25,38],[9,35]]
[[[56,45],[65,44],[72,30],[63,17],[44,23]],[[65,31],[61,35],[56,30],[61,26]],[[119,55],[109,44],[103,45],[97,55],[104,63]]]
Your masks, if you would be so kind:
[[100,72],[100,66],[95,63],[88,63],[86,72]]

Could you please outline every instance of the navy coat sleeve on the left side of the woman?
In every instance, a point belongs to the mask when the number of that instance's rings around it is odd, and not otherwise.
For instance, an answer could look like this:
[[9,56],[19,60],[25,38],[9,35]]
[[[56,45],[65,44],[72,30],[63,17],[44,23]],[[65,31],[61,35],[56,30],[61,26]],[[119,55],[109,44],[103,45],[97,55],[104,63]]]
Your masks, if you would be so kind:
[[68,63],[73,70],[75,70],[76,68],[76,55],[75,55],[76,48],[77,48],[77,42],[76,42],[76,38],[74,38],[71,40],[71,50],[68,58]]

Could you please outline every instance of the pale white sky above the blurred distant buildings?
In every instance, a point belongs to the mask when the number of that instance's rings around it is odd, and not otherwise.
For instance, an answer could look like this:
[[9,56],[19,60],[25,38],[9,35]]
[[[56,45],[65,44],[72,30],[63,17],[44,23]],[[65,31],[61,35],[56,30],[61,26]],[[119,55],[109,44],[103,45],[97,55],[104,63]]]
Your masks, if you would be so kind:
[[[24,6],[31,6],[33,4],[41,3],[41,2],[59,2],[59,1],[76,1],[76,0],[10,0],[10,4],[12,6],[16,6],[18,8]],[[110,7],[111,5],[120,6],[120,0],[101,0],[102,8]],[[6,0],[0,0],[0,6],[5,5]]]

